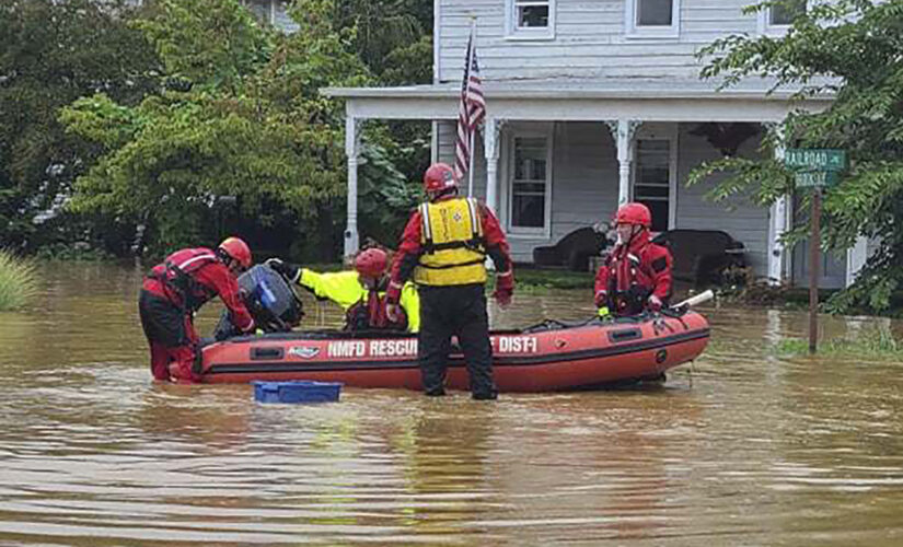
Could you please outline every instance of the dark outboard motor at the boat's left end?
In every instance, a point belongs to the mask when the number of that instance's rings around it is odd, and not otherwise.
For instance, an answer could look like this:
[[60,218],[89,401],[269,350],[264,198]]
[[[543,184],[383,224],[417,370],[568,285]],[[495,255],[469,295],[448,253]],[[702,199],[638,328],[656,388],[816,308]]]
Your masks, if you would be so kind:
[[[287,333],[304,316],[303,304],[286,279],[265,264],[239,276],[239,290],[257,328],[265,333]],[[229,311],[224,311],[213,337],[223,340],[240,334],[232,325]]]

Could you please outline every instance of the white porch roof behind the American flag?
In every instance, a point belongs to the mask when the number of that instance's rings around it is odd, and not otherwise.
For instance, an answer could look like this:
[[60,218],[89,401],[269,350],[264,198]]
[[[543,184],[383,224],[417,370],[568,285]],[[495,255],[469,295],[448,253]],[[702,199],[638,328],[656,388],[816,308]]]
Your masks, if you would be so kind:
[[[820,109],[832,100],[820,95],[794,102],[794,89],[748,79],[717,91],[702,80],[509,80],[485,81],[487,114],[500,119],[647,121],[779,121],[792,107]],[[345,98],[355,118],[455,119],[458,82],[397,88],[325,88]]]

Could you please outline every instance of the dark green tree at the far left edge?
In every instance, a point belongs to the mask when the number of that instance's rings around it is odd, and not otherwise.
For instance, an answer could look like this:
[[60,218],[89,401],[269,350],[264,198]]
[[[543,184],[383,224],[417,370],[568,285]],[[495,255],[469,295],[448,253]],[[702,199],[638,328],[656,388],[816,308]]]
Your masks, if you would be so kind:
[[36,216],[99,151],[63,131],[58,109],[99,90],[132,104],[154,84],[155,55],[131,18],[119,0],[0,1],[0,243],[53,235]]

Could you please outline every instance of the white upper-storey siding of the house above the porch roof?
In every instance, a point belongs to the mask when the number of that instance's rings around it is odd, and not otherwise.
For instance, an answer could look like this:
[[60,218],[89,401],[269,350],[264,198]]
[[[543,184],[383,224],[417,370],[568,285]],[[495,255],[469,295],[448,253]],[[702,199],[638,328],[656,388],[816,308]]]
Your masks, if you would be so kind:
[[[696,50],[733,33],[756,32],[756,15],[742,13],[752,0],[682,0],[680,35],[625,35],[626,0],[557,0],[554,38],[506,36],[507,0],[439,2],[439,79],[461,78],[471,16],[477,18],[481,70],[486,80],[545,78],[696,79]],[[713,83],[713,86],[715,83]]]

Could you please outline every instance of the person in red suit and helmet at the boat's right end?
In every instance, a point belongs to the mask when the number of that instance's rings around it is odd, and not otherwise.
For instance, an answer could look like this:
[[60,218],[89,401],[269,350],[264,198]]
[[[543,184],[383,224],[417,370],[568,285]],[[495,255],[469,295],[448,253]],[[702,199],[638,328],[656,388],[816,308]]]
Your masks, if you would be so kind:
[[600,316],[658,312],[671,295],[671,252],[649,241],[652,216],[642,203],[625,203],[615,214],[617,243],[595,275]]

